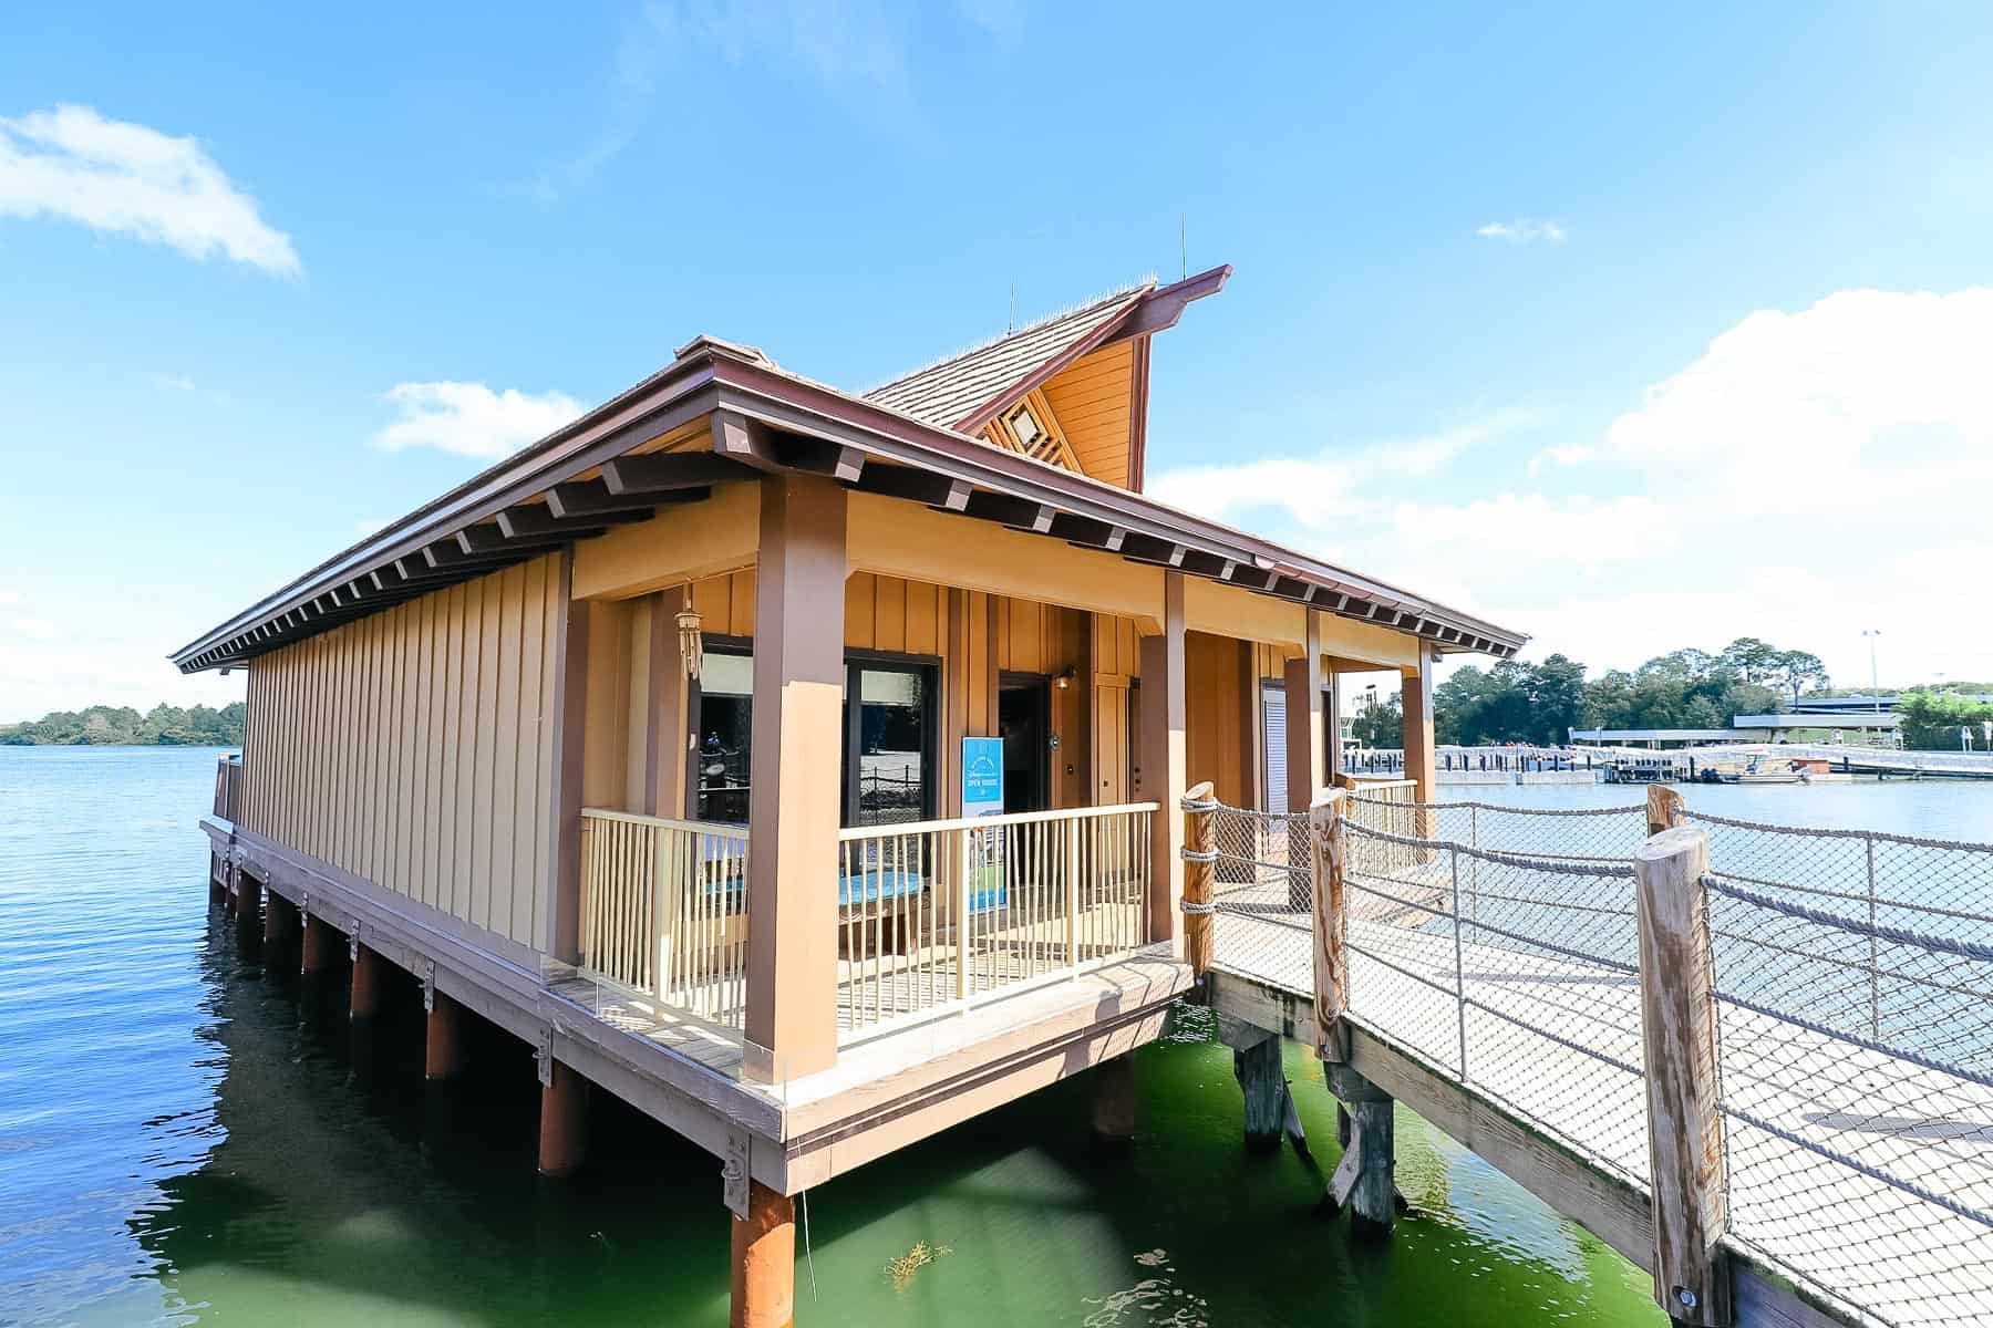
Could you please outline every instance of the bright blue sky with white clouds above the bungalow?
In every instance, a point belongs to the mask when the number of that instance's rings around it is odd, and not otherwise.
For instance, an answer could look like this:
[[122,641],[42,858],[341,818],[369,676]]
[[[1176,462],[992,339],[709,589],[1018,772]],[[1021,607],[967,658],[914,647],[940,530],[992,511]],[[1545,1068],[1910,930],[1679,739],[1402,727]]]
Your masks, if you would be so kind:
[[239,695],[161,655],[696,332],[863,388],[1186,257],[1160,496],[1993,677],[1993,10],[1758,8],[14,12],[0,721]]

